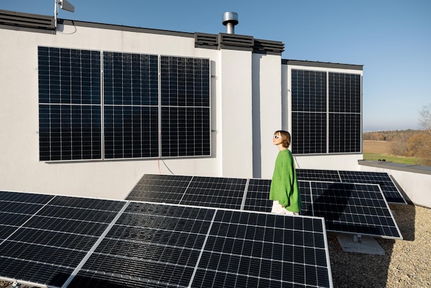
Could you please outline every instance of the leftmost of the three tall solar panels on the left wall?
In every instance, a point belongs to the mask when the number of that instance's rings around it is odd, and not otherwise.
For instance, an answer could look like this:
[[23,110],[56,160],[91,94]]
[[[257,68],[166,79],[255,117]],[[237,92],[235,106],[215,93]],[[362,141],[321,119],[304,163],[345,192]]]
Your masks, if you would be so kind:
[[102,158],[101,52],[38,48],[39,158]]

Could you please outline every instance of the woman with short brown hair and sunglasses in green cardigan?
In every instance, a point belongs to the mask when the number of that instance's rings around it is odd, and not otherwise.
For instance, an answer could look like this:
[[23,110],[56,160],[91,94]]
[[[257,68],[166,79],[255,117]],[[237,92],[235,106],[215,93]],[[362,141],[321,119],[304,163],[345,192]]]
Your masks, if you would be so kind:
[[302,208],[301,195],[296,178],[295,163],[290,150],[291,134],[284,130],[275,131],[273,144],[278,147],[269,199],[274,200],[271,212],[299,215]]

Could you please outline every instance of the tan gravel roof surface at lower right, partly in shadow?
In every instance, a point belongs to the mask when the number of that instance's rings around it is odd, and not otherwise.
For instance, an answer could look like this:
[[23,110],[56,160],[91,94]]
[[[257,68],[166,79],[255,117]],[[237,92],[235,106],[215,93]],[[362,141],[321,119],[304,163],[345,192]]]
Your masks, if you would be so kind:
[[344,252],[337,234],[328,233],[334,287],[431,287],[431,209],[390,208],[403,240],[376,238],[385,255]]

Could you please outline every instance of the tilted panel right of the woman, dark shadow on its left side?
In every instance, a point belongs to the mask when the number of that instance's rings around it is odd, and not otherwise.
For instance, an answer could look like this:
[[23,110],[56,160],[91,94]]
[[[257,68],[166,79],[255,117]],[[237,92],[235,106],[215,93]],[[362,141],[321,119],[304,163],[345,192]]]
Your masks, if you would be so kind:
[[328,231],[402,238],[379,185],[311,181],[313,216]]

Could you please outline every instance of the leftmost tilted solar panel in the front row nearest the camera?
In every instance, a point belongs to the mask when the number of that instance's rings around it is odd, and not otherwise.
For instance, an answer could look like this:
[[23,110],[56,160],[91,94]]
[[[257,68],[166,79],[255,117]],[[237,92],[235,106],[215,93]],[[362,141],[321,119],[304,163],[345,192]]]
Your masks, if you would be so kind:
[[0,192],[0,229],[8,229],[0,242],[0,276],[61,287],[124,204]]

